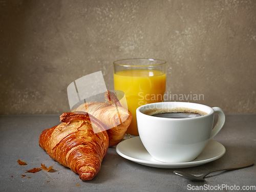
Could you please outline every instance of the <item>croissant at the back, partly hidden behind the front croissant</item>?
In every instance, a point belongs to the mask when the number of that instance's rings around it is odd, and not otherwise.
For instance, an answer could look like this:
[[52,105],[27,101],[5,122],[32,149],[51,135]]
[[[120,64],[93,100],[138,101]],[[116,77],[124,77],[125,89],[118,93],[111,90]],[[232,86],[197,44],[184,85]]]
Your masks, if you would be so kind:
[[86,102],[79,105],[72,112],[87,112],[100,120],[107,129],[110,138],[109,146],[114,146],[124,138],[133,116],[129,110],[122,108],[114,93],[106,91],[104,97],[105,102]]

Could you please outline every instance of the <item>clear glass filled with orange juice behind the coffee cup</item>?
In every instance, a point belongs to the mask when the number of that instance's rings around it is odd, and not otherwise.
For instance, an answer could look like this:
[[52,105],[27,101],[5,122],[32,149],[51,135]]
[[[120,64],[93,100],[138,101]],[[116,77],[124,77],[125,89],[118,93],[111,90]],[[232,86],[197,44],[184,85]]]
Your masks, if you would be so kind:
[[139,136],[136,109],[144,104],[161,102],[166,84],[166,61],[160,59],[123,59],[114,61],[114,87],[123,91],[132,123],[126,134]]

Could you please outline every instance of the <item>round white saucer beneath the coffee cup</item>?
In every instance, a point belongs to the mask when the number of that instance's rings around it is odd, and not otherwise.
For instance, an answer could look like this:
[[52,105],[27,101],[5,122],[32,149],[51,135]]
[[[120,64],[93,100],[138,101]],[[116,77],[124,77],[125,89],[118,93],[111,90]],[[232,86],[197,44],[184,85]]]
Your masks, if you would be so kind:
[[116,152],[125,159],[146,166],[158,168],[185,168],[202,165],[219,159],[225,154],[226,149],[221,143],[215,140],[209,140],[203,152],[195,160],[183,163],[164,163],[155,160],[146,151],[140,137],[133,137],[120,142],[116,146]]

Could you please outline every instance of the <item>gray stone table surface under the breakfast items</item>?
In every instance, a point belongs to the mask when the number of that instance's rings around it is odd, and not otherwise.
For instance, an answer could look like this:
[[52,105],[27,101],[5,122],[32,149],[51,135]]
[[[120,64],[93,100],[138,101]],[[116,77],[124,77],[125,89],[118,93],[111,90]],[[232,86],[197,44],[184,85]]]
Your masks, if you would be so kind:
[[[212,173],[205,181],[193,182],[175,175],[176,169],[148,167],[124,159],[115,147],[108,149],[98,175],[91,181],[81,181],[78,174],[52,160],[38,146],[40,133],[57,124],[58,115],[0,116],[0,191],[234,191],[238,187],[240,191],[255,190],[256,165]],[[214,140],[225,146],[224,156],[179,170],[201,175],[243,161],[255,163],[256,115],[226,115],[225,125]],[[18,159],[27,165],[18,165]],[[56,171],[26,173],[41,163],[47,167],[53,165]],[[243,186],[248,190],[242,190]]]

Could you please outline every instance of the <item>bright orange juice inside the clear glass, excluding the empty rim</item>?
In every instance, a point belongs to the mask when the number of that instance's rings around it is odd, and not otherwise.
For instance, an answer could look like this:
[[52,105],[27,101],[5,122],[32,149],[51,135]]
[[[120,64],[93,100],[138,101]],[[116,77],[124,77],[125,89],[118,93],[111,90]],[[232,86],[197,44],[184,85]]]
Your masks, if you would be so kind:
[[157,70],[125,70],[114,74],[115,90],[123,91],[133,119],[126,134],[138,136],[136,109],[144,104],[161,102],[166,73]]

